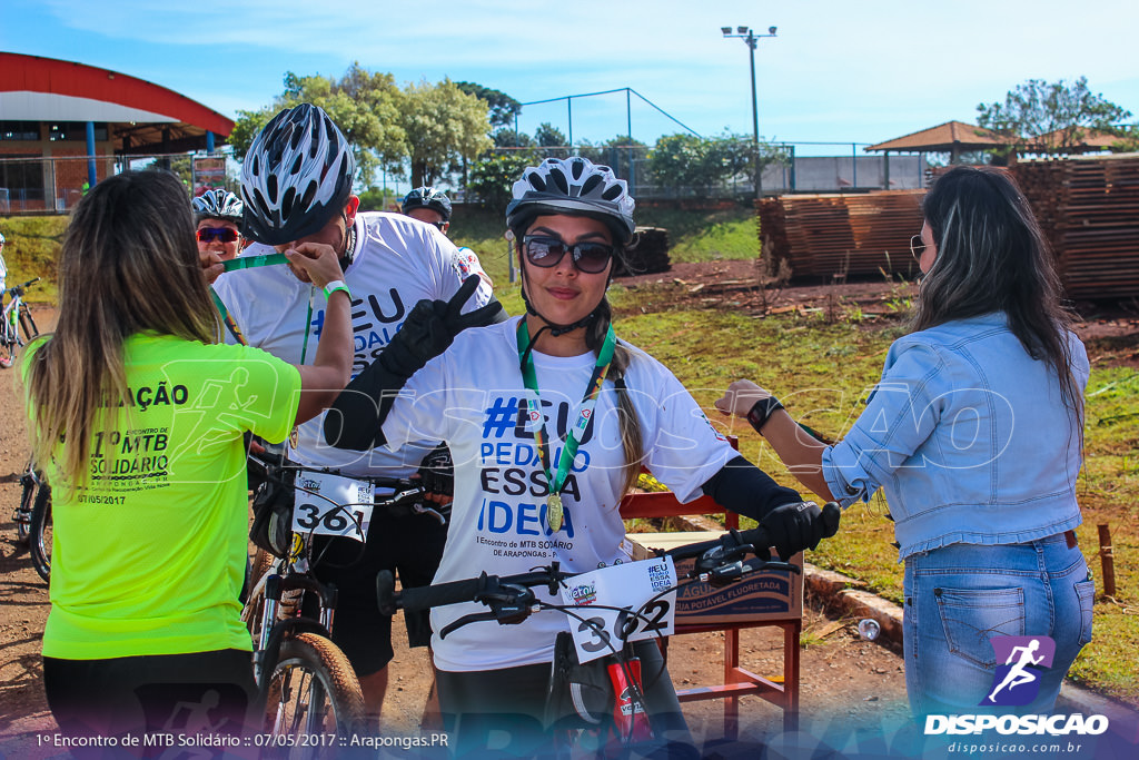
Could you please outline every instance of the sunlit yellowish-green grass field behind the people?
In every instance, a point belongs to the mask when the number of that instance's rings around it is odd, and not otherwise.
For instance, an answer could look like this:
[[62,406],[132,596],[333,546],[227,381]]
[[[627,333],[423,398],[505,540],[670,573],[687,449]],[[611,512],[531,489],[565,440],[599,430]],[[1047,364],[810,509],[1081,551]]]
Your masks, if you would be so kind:
[[[656,212],[656,213],[655,213]],[[646,210],[646,226],[670,229],[677,260],[710,260],[754,255],[754,221],[746,210],[671,212]],[[54,302],[54,269],[65,220],[60,218],[0,219],[8,237],[9,284],[41,276],[44,287],[33,300]],[[454,219],[457,242],[478,252],[494,278],[510,313],[522,312],[517,287],[507,278],[507,244],[499,214],[467,212]],[[748,247],[751,246],[751,247]],[[842,433],[857,416],[861,401],[877,381],[886,349],[901,334],[899,322],[874,329],[865,324],[810,317],[753,318],[719,311],[669,310],[641,313],[654,299],[644,289],[612,288],[618,311],[617,333],[649,351],[683,382],[726,432],[737,434],[745,456],[781,483],[794,477],[746,423],[728,420],[712,408],[732,379],[753,378],[776,391],[802,422],[829,433]],[[1096,605],[1095,640],[1084,648],[1072,676],[1087,686],[1139,704],[1139,373],[1118,366],[1109,345],[1092,346],[1088,387],[1085,466],[1080,477],[1084,524],[1077,531],[1097,588],[1103,581],[1097,556],[1097,524],[1111,526],[1114,539],[1117,594]],[[1126,353],[1126,352],[1122,352]],[[901,600],[902,567],[898,564],[893,528],[880,495],[844,515],[841,538],[811,553],[811,562],[851,575],[871,591]]]

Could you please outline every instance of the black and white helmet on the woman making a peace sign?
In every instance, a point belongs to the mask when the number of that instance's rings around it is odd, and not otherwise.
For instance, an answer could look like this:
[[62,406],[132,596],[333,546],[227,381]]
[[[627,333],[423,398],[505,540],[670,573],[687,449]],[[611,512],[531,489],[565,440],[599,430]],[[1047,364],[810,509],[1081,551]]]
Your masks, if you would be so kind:
[[629,185],[608,166],[588,158],[547,158],[530,166],[514,183],[514,201],[506,209],[506,226],[524,230],[535,216],[571,214],[596,216],[625,245],[633,236],[633,203]]

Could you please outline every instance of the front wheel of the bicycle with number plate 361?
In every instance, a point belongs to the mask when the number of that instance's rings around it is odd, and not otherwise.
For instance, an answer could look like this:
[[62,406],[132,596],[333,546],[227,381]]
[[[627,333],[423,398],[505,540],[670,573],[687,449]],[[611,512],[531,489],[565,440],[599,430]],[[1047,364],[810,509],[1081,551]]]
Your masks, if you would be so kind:
[[338,745],[304,743],[318,735],[349,737],[364,729],[360,681],[344,653],[322,636],[298,634],[286,638],[269,678],[264,732],[274,737],[295,737],[272,742],[280,757],[335,757]]

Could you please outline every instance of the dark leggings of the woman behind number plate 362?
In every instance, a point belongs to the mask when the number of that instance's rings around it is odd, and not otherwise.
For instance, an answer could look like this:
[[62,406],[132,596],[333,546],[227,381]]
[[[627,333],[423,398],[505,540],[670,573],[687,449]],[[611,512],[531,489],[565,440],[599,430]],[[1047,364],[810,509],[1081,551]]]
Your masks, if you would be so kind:
[[[654,641],[638,641],[633,651],[640,657],[645,706],[653,732],[661,738],[658,753],[648,757],[698,757],[659,647]],[[550,670],[549,663],[542,663],[472,672],[437,671],[443,727],[452,737],[456,755],[538,758],[550,752],[546,727]]]

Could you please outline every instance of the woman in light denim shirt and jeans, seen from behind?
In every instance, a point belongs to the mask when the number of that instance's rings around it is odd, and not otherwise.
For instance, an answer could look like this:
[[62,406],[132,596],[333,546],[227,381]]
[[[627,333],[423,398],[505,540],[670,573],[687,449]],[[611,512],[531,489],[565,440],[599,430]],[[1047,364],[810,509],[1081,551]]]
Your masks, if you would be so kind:
[[885,491],[915,714],[1047,712],[1091,639],[1095,586],[1073,532],[1088,357],[1005,172],[953,169],[923,211],[915,332],[842,441],[805,435],[748,381],[716,407],[747,416],[823,499]]

